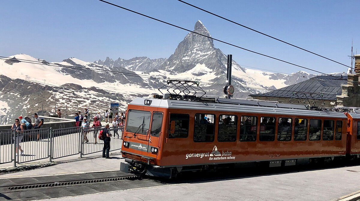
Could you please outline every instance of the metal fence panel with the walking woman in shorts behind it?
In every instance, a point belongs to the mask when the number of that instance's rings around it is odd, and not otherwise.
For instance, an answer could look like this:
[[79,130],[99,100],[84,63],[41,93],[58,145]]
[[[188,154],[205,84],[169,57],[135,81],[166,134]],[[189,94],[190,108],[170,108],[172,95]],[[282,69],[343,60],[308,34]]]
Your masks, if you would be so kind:
[[14,149],[16,150],[17,146],[20,146],[24,151],[21,154],[20,150],[17,150],[16,161],[24,163],[49,158],[50,129],[39,128],[15,132]]

